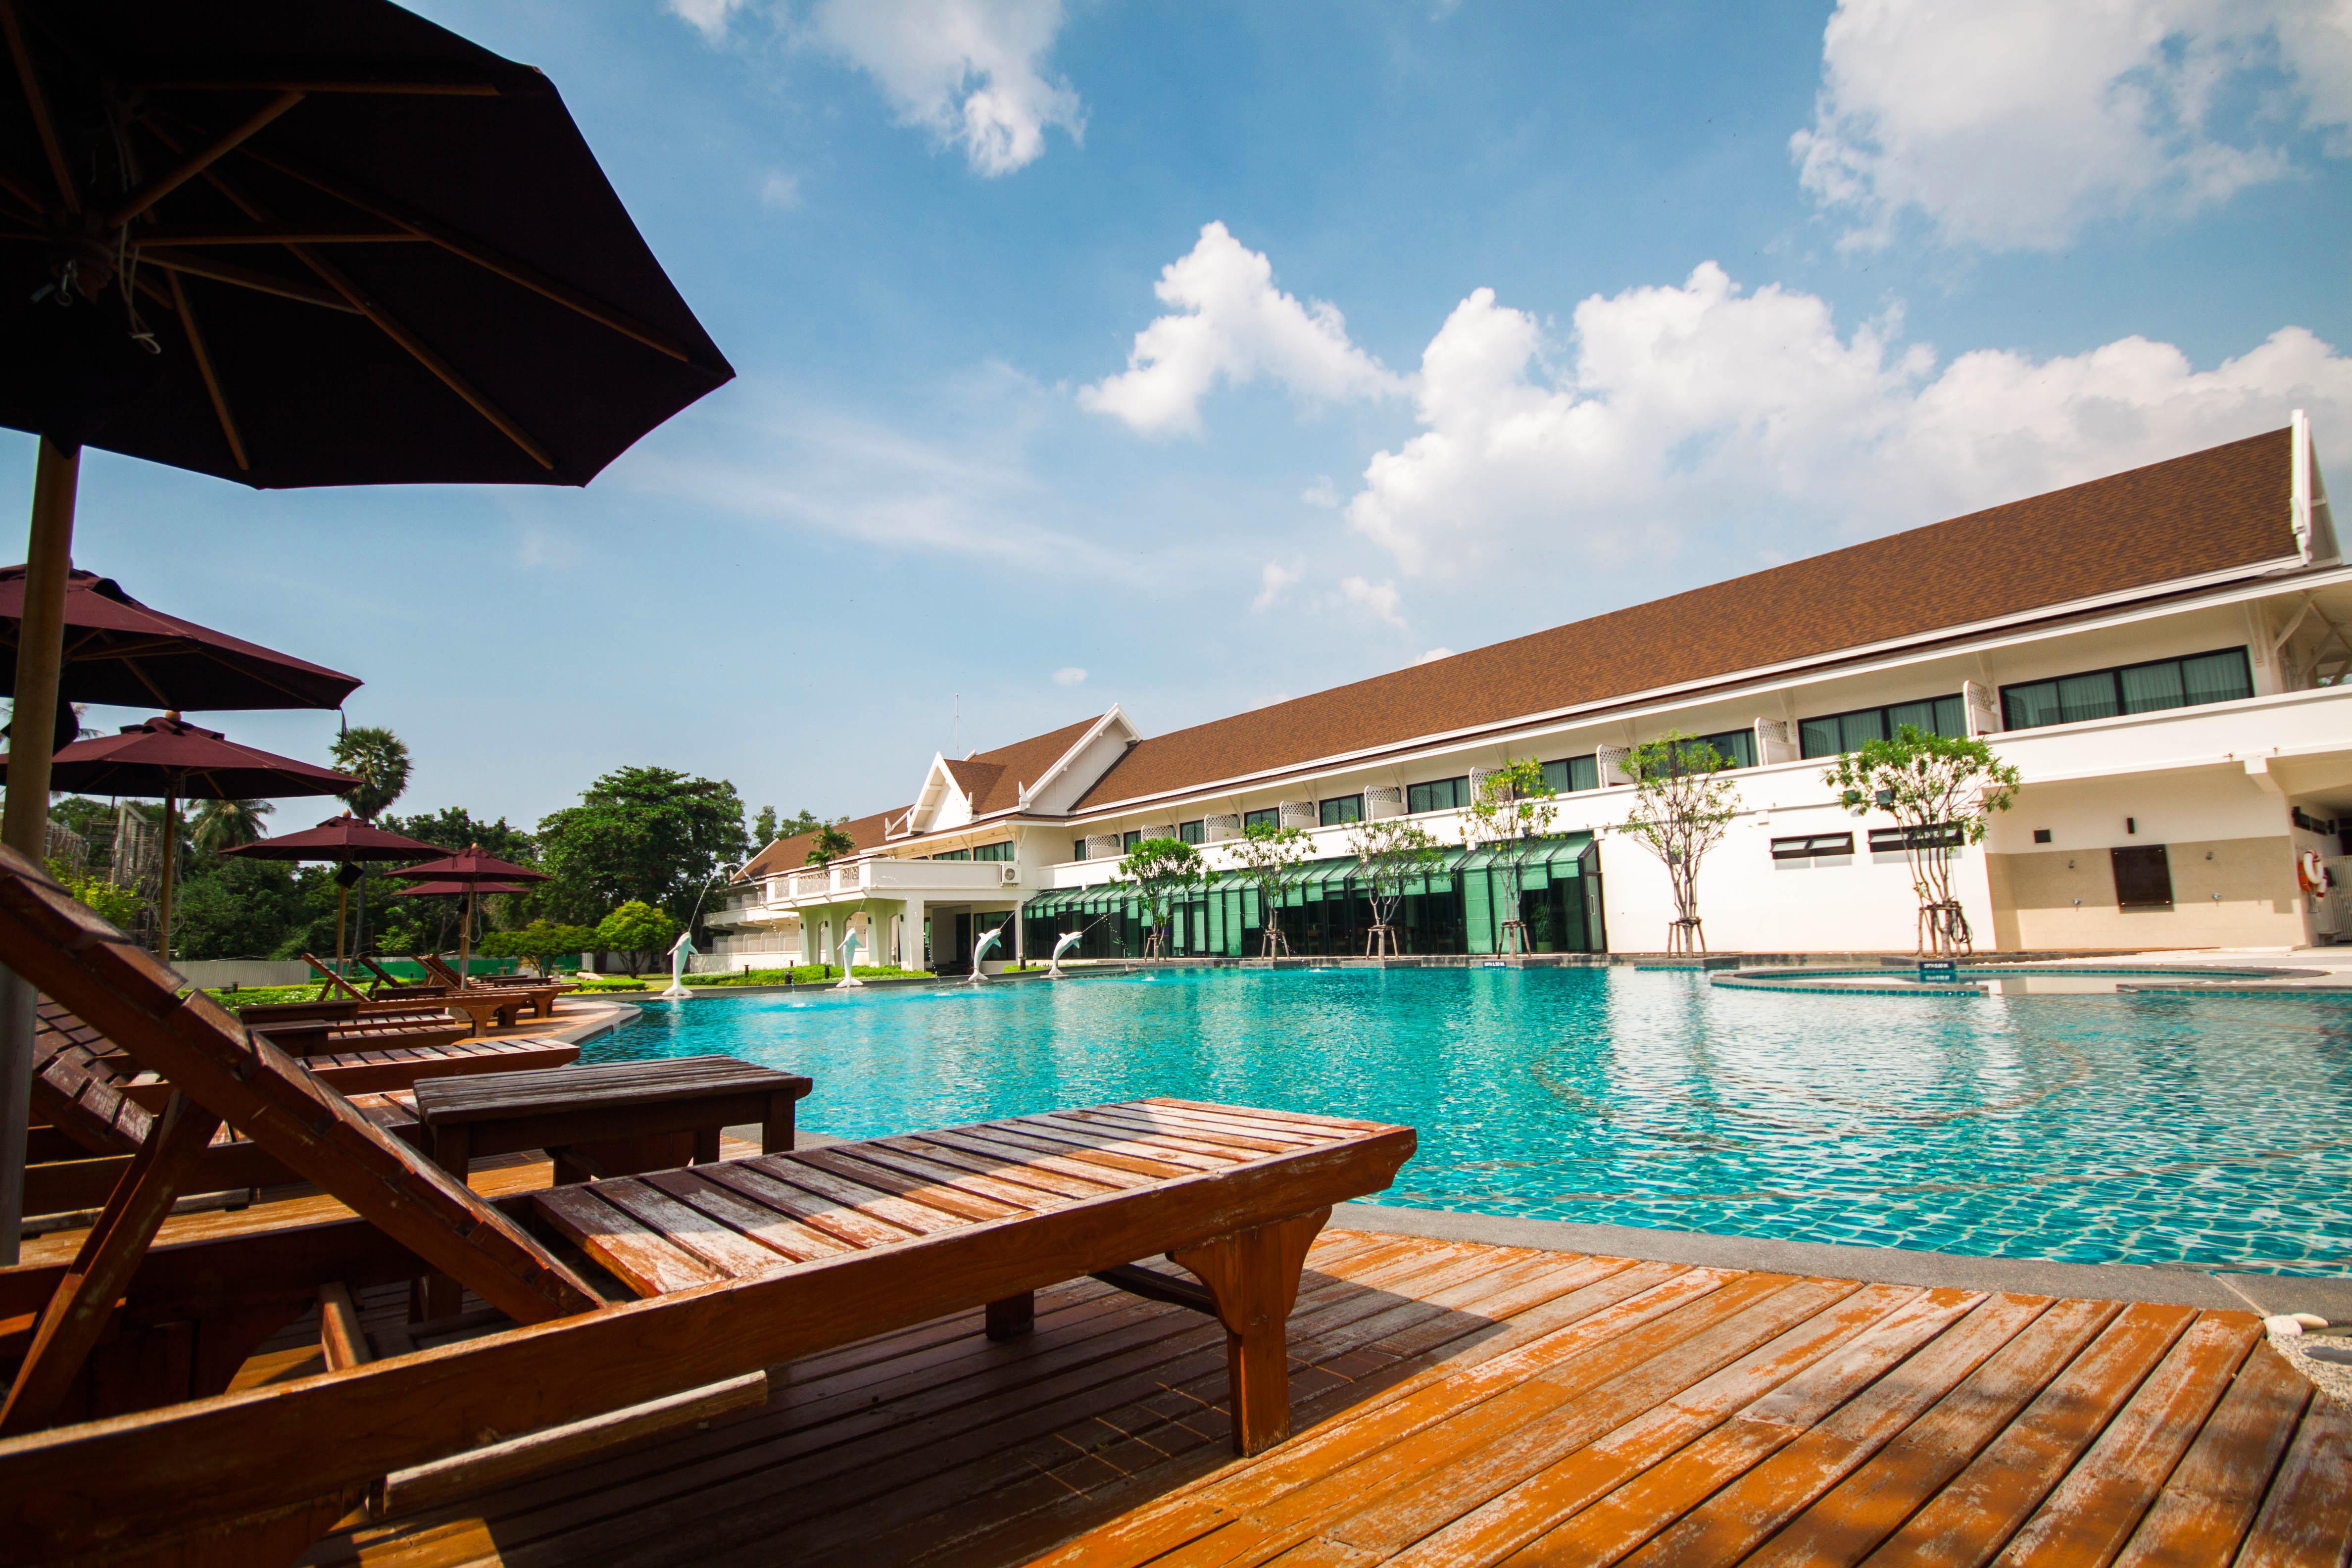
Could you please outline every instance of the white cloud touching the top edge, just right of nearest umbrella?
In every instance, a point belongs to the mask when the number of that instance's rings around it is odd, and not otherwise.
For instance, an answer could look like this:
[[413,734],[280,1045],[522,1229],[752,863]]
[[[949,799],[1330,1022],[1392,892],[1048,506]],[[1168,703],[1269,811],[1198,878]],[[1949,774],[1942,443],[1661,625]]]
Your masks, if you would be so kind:
[[866,71],[903,125],[981,174],[1011,174],[1037,162],[1047,127],[1087,132],[1077,92],[1047,66],[1061,21],[1061,0],[818,0],[809,35]]

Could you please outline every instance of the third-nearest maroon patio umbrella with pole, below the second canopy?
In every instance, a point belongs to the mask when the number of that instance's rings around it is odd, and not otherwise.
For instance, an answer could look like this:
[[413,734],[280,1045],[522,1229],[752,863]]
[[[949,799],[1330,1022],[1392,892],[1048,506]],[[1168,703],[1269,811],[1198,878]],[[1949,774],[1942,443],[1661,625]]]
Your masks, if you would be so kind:
[[[0,780],[9,759],[0,757]],[[216,729],[198,729],[176,712],[120,733],[75,741],[56,752],[49,780],[85,795],[162,797],[162,898],[158,900],[155,957],[172,961],[172,863],[179,844],[179,802],[252,799],[285,795],[343,795],[360,788],[350,773],[294,762],[252,745],[238,745]]]

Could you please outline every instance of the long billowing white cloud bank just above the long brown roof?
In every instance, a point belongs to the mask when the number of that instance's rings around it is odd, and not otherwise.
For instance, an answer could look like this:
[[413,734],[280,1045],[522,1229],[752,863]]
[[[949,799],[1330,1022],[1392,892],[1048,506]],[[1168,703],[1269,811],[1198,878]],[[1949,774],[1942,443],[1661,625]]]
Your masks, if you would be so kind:
[[[1795,289],[1710,263],[1592,296],[1566,346],[1479,289],[1416,378],[1418,435],[1378,451],[1348,522],[1406,574],[1524,548],[1665,552],[1679,529],[1828,517],[1884,534],[2284,425],[2352,440],[2352,360],[2300,327],[2197,369],[2171,343],[1938,362],[1900,320],[1839,331]],[[1545,369],[1559,350],[1562,369]]]

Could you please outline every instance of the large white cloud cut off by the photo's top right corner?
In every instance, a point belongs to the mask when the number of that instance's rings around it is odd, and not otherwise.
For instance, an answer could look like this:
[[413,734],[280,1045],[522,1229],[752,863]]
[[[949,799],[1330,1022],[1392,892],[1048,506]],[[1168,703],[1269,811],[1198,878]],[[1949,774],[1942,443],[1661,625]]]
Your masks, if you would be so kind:
[[[2263,113],[2232,118],[2251,94]],[[2298,125],[2352,150],[2347,0],[1839,0],[1790,150],[1858,219],[1849,244],[1917,212],[1945,240],[2053,249],[2279,179]]]

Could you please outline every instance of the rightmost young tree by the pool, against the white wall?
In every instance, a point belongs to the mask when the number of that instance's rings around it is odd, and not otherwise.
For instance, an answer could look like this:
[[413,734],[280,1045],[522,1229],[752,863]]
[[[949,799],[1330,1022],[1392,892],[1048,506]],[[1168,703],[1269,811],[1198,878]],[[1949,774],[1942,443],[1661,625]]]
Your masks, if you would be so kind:
[[1839,757],[1823,783],[1853,816],[1877,809],[1903,830],[1903,858],[1919,893],[1919,952],[1973,952],[1969,917],[1952,898],[1952,851],[1985,842],[1985,823],[2009,811],[2018,792],[2018,771],[1983,741],[1905,724],[1893,741],[1865,741]]

